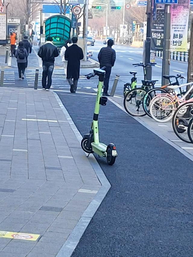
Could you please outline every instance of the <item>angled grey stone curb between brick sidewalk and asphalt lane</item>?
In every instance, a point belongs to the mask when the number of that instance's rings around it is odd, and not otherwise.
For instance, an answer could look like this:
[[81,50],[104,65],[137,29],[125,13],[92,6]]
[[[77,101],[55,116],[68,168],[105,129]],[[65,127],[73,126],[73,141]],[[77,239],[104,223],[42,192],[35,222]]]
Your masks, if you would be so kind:
[[[59,103],[59,106],[61,107],[66,119],[68,120],[74,134],[76,135],[79,142],[82,140],[82,135],[78,131],[76,125],[74,124],[73,120],[71,119],[71,116],[69,115],[68,111],[62,104],[62,101],[60,100],[59,96],[52,91],[55,95],[56,100]],[[56,255],[56,257],[70,257],[78,245],[82,235],[84,234],[84,231],[86,230],[88,224],[90,223],[93,215],[99,208],[100,204],[102,203],[103,199],[105,198],[106,194],[108,193],[111,184],[109,183],[108,179],[106,178],[103,170],[100,168],[100,165],[97,163],[95,157],[93,155],[89,156],[90,164],[92,165],[100,183],[101,188],[94,197],[94,199],[90,202],[87,209],[84,211],[83,215],[81,216],[80,220],[76,224],[75,228],[71,232],[70,236]]]

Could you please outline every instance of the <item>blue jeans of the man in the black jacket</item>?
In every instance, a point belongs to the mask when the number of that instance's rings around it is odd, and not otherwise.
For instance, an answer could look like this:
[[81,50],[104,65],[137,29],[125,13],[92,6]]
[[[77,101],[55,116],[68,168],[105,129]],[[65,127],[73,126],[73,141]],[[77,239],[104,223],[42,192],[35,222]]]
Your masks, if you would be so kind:
[[[52,73],[54,70],[54,63],[43,62],[43,72],[42,72],[42,87],[50,88],[52,85]],[[47,81],[48,78],[48,81]],[[47,82],[47,83],[46,83]]]

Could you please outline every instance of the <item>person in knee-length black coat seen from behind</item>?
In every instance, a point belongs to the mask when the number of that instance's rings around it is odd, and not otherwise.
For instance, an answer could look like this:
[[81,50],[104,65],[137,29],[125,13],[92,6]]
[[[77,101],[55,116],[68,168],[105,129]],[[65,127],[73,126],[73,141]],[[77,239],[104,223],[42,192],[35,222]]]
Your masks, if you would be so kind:
[[[78,79],[80,76],[80,60],[84,58],[82,48],[77,45],[78,38],[73,37],[70,47],[65,51],[65,60],[68,61],[67,64],[67,79],[70,84],[71,93],[76,93]],[[73,79],[73,80],[72,80]]]

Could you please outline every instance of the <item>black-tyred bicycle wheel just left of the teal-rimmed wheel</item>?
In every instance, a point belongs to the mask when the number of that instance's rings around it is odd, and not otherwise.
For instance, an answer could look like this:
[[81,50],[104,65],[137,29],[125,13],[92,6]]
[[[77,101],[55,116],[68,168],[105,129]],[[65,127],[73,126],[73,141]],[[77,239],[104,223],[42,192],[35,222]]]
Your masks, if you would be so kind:
[[145,116],[142,102],[147,91],[143,88],[134,88],[124,98],[125,110],[132,116]]

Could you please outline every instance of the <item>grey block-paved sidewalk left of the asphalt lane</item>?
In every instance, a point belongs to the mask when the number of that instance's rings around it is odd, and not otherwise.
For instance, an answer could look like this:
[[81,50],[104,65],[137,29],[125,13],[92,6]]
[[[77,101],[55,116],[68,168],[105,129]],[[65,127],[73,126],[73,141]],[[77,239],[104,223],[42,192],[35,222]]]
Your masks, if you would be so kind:
[[56,256],[101,184],[52,91],[0,88],[0,121],[0,256]]

